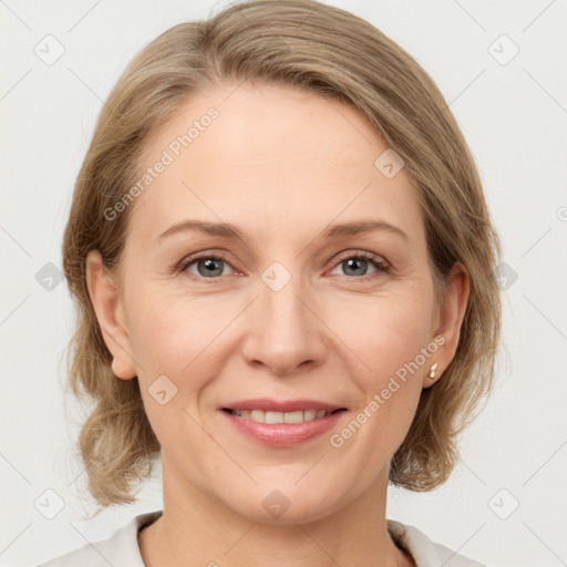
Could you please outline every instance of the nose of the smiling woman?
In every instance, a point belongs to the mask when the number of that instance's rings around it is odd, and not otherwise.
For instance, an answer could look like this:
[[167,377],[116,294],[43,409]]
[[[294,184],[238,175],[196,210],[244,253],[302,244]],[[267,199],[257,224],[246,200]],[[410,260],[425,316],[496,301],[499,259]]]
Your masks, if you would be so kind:
[[250,307],[243,343],[249,364],[289,375],[324,363],[328,328],[317,312],[317,301],[309,299],[295,278],[279,291],[260,281],[259,297]]

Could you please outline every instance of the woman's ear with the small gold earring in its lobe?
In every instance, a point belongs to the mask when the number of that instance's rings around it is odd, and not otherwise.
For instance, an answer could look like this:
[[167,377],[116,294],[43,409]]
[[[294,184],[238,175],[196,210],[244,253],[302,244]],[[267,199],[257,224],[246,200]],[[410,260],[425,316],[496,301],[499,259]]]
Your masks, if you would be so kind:
[[[445,287],[445,295],[439,306],[439,323],[434,333],[435,342],[441,346],[431,358],[431,364],[427,363],[425,367],[423,388],[434,384],[455,357],[470,291],[468,272],[461,262],[456,262],[449,272]],[[435,378],[432,379],[430,367],[435,362],[437,367]]]

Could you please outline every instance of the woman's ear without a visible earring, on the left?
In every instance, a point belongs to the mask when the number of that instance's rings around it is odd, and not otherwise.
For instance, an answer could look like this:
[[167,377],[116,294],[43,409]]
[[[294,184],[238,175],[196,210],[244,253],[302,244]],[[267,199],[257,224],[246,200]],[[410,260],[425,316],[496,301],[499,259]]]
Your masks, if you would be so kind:
[[112,353],[112,370],[117,378],[136,377],[132,348],[124,317],[120,289],[102,261],[99,250],[86,256],[86,286],[104,343]]

